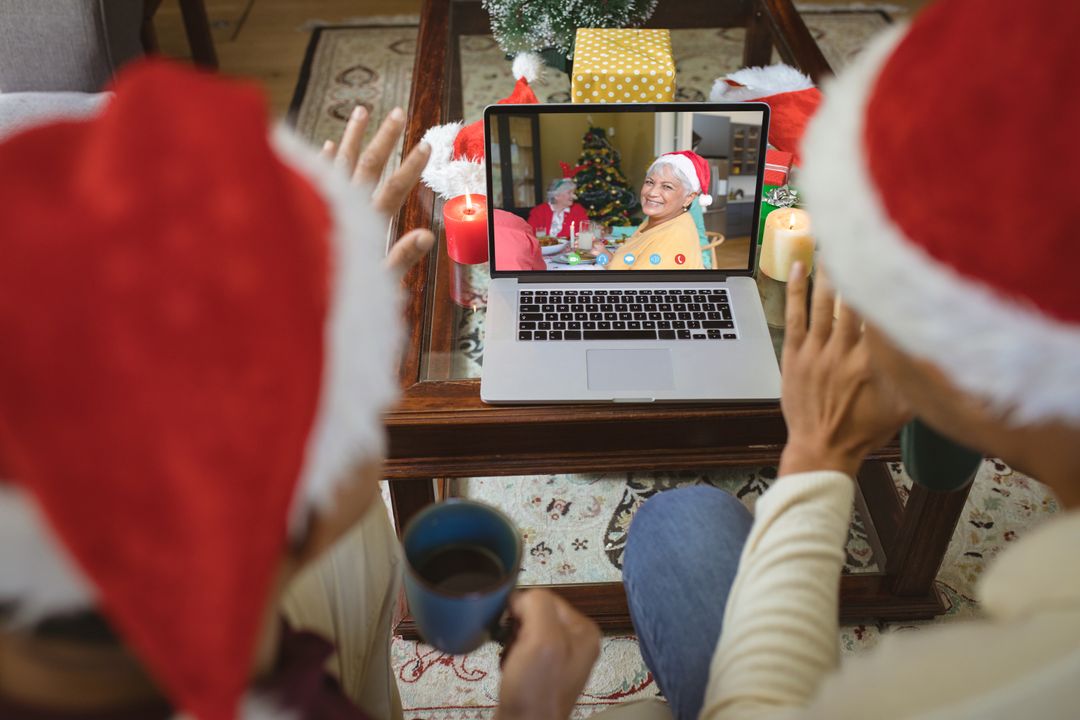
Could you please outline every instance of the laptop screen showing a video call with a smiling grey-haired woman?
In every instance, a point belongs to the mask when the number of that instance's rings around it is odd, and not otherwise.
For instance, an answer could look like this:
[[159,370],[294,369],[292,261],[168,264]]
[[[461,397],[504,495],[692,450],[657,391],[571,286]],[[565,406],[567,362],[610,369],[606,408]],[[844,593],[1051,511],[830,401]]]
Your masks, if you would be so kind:
[[768,125],[761,103],[488,107],[492,276],[751,272]]

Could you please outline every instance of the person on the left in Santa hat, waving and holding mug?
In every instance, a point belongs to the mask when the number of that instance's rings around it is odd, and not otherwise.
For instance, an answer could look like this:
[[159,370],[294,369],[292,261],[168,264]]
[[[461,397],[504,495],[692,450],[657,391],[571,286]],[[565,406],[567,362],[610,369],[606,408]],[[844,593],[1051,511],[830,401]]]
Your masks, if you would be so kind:
[[[386,239],[430,149],[376,190],[400,109],[320,157],[234,81],[113,91],[0,142],[0,717],[401,717],[381,413],[433,236]],[[565,716],[598,631],[512,604],[502,711]]]

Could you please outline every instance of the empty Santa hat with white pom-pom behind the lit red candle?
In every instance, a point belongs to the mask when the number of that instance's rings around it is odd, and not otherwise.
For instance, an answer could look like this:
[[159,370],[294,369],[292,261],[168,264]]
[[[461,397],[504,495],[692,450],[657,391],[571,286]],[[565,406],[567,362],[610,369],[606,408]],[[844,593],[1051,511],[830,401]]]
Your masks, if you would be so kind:
[[[536,93],[529,86],[540,77],[543,58],[537,53],[522,53],[514,58],[514,91],[497,105],[535,105]],[[465,125],[451,122],[436,125],[424,133],[423,141],[431,146],[431,159],[421,175],[424,185],[444,200],[467,192],[484,194],[484,121]]]

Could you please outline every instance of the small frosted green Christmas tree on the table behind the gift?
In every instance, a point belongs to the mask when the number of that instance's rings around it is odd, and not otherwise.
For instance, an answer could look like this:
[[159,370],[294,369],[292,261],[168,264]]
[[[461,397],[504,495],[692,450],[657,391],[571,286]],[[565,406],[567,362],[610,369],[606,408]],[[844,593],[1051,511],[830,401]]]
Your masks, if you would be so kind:
[[573,56],[579,27],[636,27],[649,19],[657,0],[484,0],[491,35],[511,55],[554,47]]

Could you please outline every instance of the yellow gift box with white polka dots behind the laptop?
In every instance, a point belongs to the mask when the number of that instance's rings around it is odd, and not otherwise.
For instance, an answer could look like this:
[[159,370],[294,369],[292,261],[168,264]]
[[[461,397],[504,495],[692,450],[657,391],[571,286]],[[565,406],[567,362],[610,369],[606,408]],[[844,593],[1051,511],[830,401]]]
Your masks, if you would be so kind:
[[578,28],[570,98],[575,103],[670,103],[675,60],[667,30]]

